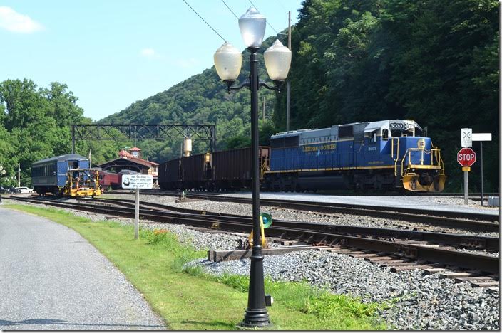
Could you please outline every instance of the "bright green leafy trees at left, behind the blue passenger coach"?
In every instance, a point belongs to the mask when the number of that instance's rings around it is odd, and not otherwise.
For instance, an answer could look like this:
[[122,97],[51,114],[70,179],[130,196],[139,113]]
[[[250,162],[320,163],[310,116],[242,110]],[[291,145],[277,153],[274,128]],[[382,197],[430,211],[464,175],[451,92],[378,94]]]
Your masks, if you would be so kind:
[[[76,105],[78,98],[64,84],[39,88],[32,80],[0,83],[0,164],[6,169],[1,186],[31,184],[31,164],[71,152],[71,124],[91,123]],[[125,142],[77,142],[77,151],[100,161],[116,157]]]

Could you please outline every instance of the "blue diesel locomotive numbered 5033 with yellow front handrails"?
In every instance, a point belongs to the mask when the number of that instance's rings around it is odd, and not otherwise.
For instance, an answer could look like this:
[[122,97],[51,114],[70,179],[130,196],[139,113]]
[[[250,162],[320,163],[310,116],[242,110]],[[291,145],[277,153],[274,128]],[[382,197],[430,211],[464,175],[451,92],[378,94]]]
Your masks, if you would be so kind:
[[383,120],[273,135],[262,189],[442,191],[441,151],[421,134],[414,120]]

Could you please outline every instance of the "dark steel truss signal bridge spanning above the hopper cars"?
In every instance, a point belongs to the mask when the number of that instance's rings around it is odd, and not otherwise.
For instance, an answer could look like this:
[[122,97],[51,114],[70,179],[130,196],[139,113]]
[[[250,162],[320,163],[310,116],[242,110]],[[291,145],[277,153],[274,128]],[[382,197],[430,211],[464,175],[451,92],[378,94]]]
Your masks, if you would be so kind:
[[216,125],[76,124],[71,125],[71,152],[75,153],[76,140],[187,138],[208,141],[214,152]]

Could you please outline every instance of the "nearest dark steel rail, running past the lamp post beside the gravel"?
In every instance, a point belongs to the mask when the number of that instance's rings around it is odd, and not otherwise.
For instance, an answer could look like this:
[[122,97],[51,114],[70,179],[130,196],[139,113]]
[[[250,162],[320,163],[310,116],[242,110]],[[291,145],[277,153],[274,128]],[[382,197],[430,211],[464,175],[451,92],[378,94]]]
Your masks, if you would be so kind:
[[[99,213],[113,213],[118,216],[131,217],[134,216],[132,208],[113,208],[103,207],[100,205],[93,205],[86,203],[85,205],[76,203],[61,203],[55,201],[39,201],[35,199],[16,198],[15,200],[42,203],[50,206],[59,206],[66,208],[73,208],[83,211],[93,211]],[[170,223],[183,223],[195,226],[205,226],[207,228],[220,228],[232,231],[249,231],[250,223],[243,223],[242,221],[217,221],[210,216],[193,216],[193,214],[173,214],[162,211],[149,211],[140,210],[141,218],[148,218],[152,221],[170,222]],[[222,218],[224,216],[217,216]],[[362,248],[364,250],[371,250],[376,252],[390,253],[402,258],[410,258],[414,260],[425,260],[432,263],[444,263],[446,265],[455,265],[459,268],[468,270],[480,270],[486,273],[499,273],[499,258],[490,255],[481,255],[478,253],[466,253],[452,250],[445,250],[442,248],[431,248],[426,245],[416,245],[409,243],[399,243],[398,241],[379,240],[372,238],[362,238],[357,236],[344,235],[340,233],[329,233],[319,231],[306,231],[299,228],[292,228],[286,226],[272,226],[267,228],[269,236],[277,236],[281,238],[290,238],[297,240],[304,240],[307,243],[314,243],[319,245],[334,245],[340,244],[351,248]]]

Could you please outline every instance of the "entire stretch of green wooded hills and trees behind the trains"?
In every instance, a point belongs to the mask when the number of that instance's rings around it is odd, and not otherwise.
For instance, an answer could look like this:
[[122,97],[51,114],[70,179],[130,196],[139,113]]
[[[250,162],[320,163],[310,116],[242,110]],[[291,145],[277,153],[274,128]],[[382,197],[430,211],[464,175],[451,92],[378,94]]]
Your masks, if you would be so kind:
[[[416,120],[442,149],[446,191],[461,189],[461,128],[491,132],[493,141],[483,144],[485,189],[498,191],[498,40],[496,0],[306,0],[292,29],[291,129]],[[247,51],[243,60],[240,81],[249,75]],[[267,80],[261,54],[259,60],[260,78]],[[267,144],[270,134],[285,129],[286,94],[260,89],[259,96],[260,143]],[[26,79],[1,83],[0,156],[9,173],[21,162],[28,179],[31,162],[69,152],[68,126],[91,121],[76,100],[61,83],[48,89]],[[217,149],[244,147],[250,93],[228,94],[212,67],[100,122],[216,124]],[[93,161],[104,162],[130,144],[78,142],[78,152],[91,149]],[[473,146],[479,154],[478,142]],[[138,147],[158,162],[180,155],[180,140]],[[194,142],[194,153],[207,149]],[[474,191],[479,168],[478,162],[470,173]]]

